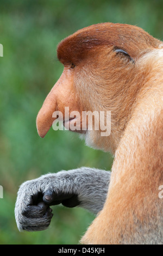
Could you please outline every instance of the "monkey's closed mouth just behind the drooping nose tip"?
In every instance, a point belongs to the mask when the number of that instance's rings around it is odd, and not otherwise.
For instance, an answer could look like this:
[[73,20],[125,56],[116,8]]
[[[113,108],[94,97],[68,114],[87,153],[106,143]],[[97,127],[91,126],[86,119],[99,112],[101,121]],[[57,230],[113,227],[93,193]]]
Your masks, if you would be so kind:
[[72,132],[85,133],[86,130],[82,129],[82,123],[80,119],[73,117],[63,121],[64,127]]

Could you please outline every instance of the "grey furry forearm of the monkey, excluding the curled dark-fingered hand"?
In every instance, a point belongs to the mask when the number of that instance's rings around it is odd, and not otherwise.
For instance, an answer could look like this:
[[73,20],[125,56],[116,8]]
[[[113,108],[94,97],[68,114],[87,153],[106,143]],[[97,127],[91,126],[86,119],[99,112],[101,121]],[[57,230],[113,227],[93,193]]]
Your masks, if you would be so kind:
[[108,192],[111,172],[82,167],[79,169],[61,171],[57,173],[65,181],[65,191],[78,194],[80,207],[85,208],[94,214],[103,209]]

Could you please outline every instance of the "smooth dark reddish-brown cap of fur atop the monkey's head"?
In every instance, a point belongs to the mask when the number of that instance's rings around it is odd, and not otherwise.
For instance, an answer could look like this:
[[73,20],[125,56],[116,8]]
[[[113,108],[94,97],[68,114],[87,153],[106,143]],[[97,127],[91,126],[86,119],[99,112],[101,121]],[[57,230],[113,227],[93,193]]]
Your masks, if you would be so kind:
[[143,49],[155,47],[158,42],[141,28],[118,23],[102,23],[80,29],[68,36],[58,45],[57,53],[63,64],[79,63],[85,59],[88,51],[96,51],[97,46],[121,47],[127,50],[131,57],[137,57]]

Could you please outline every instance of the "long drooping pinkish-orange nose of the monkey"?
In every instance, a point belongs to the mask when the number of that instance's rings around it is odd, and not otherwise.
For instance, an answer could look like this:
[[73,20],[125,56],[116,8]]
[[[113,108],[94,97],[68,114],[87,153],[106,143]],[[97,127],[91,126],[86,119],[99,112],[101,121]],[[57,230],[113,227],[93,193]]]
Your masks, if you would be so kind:
[[52,90],[47,95],[36,118],[37,132],[41,138],[45,137],[46,133],[51,128],[53,121],[55,120],[55,118],[52,117],[52,114],[56,108],[57,99]]

